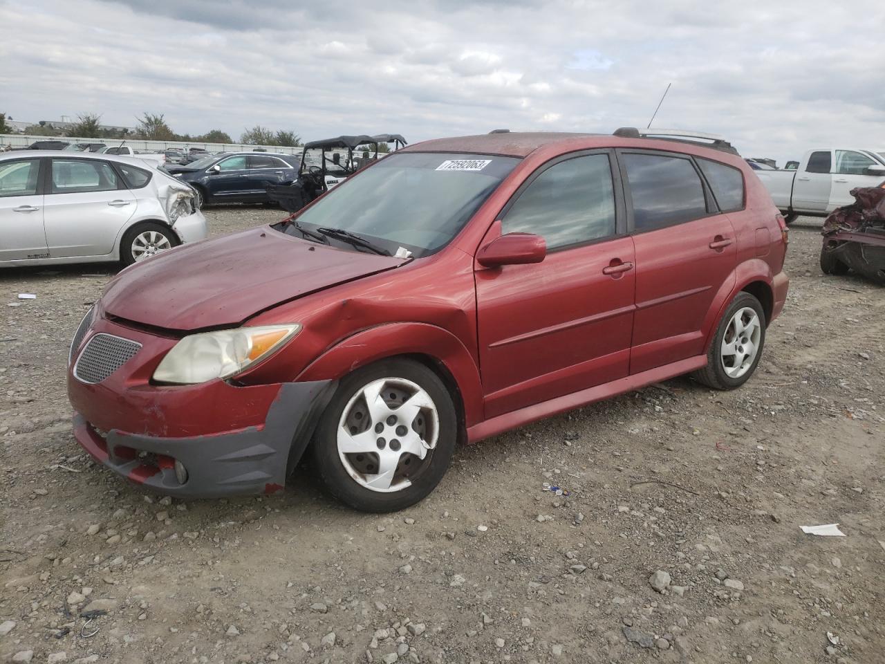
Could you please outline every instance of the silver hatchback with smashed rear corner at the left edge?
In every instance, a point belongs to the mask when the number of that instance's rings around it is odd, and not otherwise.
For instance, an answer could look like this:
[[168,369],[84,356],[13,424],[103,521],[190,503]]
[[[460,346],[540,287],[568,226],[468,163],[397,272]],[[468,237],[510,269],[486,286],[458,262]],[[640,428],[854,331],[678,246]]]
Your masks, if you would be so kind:
[[130,265],[205,236],[194,190],[142,159],[0,154],[0,266]]

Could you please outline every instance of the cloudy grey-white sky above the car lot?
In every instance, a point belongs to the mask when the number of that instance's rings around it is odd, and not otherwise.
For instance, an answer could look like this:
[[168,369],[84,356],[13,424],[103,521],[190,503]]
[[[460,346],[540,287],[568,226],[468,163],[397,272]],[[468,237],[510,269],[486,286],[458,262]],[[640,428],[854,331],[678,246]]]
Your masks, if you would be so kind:
[[885,5],[852,0],[0,0],[0,112],[238,138],[496,127],[885,147]]

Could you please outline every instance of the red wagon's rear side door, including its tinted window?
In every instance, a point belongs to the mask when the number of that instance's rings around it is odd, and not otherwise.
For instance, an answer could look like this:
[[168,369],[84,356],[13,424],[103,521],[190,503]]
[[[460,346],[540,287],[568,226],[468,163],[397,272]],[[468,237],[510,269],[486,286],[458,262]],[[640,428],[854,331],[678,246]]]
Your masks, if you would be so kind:
[[688,155],[618,158],[636,251],[630,373],[639,374],[704,353],[704,318],[735,282],[735,230]]

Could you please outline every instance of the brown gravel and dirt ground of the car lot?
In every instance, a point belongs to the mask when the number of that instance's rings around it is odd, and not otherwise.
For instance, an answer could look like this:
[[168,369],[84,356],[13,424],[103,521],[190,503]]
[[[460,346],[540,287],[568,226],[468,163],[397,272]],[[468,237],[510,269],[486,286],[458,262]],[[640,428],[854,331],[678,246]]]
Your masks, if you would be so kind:
[[[206,216],[219,235],[283,215]],[[386,516],[304,468],[273,498],[119,481],[65,398],[112,267],[4,270],[0,660],[881,662],[885,300],[820,273],[819,230],[791,230],[743,389],[680,378],[512,431]],[[833,522],[847,537],[799,529]]]

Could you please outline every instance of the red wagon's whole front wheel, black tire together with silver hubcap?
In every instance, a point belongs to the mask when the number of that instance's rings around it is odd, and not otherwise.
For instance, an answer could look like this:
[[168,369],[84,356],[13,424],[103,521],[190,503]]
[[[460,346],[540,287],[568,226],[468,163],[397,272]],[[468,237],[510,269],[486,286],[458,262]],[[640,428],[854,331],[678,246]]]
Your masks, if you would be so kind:
[[[403,419],[406,407],[411,421]],[[435,489],[457,439],[455,405],[439,376],[412,360],[386,359],[342,380],[319,418],[311,453],[332,496],[362,512],[396,512]],[[422,448],[424,459],[407,453]]]

